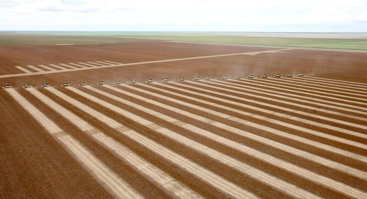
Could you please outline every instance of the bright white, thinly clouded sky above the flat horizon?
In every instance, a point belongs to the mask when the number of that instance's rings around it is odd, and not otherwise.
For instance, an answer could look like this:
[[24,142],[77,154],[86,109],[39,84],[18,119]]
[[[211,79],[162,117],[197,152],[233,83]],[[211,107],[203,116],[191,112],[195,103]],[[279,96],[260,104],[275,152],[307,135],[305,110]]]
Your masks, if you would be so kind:
[[0,0],[0,31],[367,32],[366,0]]

